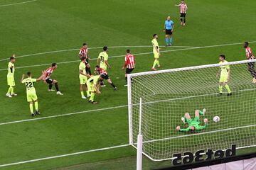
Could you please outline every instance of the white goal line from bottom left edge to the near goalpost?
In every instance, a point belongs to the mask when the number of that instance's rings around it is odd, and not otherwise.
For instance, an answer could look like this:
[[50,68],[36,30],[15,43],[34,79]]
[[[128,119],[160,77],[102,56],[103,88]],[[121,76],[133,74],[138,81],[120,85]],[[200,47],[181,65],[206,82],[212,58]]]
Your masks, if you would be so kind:
[[38,162],[38,161],[43,161],[43,160],[47,160],[47,159],[55,159],[55,158],[60,158],[60,157],[69,157],[69,156],[78,155],[78,154],[104,151],[104,150],[108,150],[108,149],[115,149],[115,148],[128,147],[128,146],[129,146],[129,144],[117,145],[117,146],[114,146],[114,147],[104,147],[104,148],[100,148],[100,149],[92,149],[92,150],[87,150],[87,151],[82,151],[82,152],[75,152],[75,153],[71,153],[71,154],[61,154],[61,155],[57,155],[57,156],[53,156],[53,157],[44,157],[44,158],[40,158],[40,159],[31,159],[31,160],[28,160],[28,161],[14,162],[14,163],[11,163],[11,164],[1,164],[0,167],[12,166],[12,165],[18,165],[18,164],[26,164],[26,163],[30,163],[30,162]]

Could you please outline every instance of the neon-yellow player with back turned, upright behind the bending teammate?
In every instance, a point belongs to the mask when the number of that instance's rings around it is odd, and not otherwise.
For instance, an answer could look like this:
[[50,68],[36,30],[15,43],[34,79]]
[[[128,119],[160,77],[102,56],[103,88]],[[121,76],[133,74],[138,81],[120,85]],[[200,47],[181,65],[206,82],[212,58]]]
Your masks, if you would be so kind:
[[[107,71],[107,69],[110,69],[110,64],[108,63],[108,55],[107,55],[107,47],[103,47],[103,52],[100,52],[98,58],[97,58],[97,64],[100,65],[101,69],[104,69]],[[106,86],[104,85],[104,81],[101,82],[101,86]]]

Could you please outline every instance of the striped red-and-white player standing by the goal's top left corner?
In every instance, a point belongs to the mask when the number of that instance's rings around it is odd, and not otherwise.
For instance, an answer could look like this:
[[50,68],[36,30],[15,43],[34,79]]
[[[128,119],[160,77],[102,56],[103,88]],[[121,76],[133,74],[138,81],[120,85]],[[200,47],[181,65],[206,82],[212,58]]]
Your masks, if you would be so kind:
[[[127,55],[125,56],[124,60],[125,60],[125,63],[122,69],[127,67],[127,69],[125,70],[125,80],[127,81],[127,74],[131,74],[132,70],[134,70],[134,67],[135,67],[134,55],[131,54],[129,49],[127,50]],[[127,84],[125,84],[124,86],[127,86]]]

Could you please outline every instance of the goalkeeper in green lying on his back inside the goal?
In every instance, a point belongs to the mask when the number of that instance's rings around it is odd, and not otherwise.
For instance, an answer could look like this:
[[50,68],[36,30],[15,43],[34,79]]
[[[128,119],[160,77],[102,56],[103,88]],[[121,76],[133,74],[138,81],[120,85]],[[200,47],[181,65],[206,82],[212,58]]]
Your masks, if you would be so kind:
[[203,111],[196,110],[195,111],[195,118],[191,118],[189,113],[185,113],[184,117],[181,118],[184,124],[188,123],[188,128],[186,129],[181,129],[180,126],[177,126],[176,130],[180,132],[189,132],[189,131],[196,131],[199,132],[201,130],[204,130],[207,125],[208,125],[208,119],[205,118],[203,121],[205,125],[200,125],[200,117],[199,115],[205,115],[206,113],[206,108],[203,108]]

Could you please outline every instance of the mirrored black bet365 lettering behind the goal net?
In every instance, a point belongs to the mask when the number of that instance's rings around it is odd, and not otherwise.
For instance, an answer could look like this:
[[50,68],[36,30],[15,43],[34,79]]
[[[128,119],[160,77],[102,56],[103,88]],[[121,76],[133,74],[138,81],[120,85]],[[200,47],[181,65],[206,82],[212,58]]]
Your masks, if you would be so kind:
[[[204,155],[206,157],[204,157]],[[180,165],[180,164],[190,164],[195,159],[195,162],[203,162],[211,159],[220,159],[223,157],[231,157],[235,156],[235,145],[231,145],[231,149],[217,150],[213,152],[212,149],[207,149],[207,152],[204,150],[198,150],[195,154],[191,152],[185,152],[183,157],[182,154],[174,154],[173,164]]]

